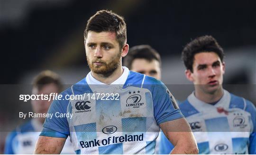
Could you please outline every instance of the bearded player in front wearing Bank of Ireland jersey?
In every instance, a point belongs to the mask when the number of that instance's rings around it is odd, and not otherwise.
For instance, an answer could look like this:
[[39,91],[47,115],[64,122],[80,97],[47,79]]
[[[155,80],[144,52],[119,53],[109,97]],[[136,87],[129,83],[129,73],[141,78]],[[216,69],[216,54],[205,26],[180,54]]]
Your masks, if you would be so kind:
[[46,118],[36,154],[60,153],[68,135],[77,154],[154,154],[159,125],[175,144],[174,153],[197,153],[189,125],[165,85],[122,67],[126,42],[123,17],[106,10],[91,16],[84,31],[91,72],[62,93],[86,96],[53,101],[48,113],[73,117]]

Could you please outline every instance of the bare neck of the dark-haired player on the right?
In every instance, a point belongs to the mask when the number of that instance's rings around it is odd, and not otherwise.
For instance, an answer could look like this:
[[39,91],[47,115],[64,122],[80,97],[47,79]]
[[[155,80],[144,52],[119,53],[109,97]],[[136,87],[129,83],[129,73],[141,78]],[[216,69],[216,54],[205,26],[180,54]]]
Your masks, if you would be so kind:
[[222,98],[222,96],[223,96],[222,87],[220,87],[218,90],[216,90],[213,93],[205,93],[199,89],[195,89],[195,97],[205,103],[214,103],[216,101],[219,101],[219,99]]

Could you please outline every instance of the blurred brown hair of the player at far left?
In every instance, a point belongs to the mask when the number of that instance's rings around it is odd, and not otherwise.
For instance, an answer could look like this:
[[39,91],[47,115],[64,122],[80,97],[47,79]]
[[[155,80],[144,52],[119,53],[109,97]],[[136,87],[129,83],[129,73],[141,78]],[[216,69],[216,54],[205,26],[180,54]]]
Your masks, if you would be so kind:
[[58,91],[62,90],[62,82],[57,73],[46,70],[40,72],[33,80],[33,87],[41,90],[46,84],[56,84]]

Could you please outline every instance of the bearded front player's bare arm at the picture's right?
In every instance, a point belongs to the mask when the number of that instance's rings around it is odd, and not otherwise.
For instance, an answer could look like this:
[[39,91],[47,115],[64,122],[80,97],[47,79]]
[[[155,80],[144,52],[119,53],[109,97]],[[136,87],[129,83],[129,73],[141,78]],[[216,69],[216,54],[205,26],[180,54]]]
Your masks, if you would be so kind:
[[163,122],[160,127],[174,145],[171,154],[198,154],[195,138],[185,118]]

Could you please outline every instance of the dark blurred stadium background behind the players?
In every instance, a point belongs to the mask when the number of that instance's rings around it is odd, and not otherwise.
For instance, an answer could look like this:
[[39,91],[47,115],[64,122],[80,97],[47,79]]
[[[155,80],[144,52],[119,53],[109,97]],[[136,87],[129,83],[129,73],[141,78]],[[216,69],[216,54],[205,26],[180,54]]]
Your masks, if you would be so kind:
[[[183,46],[209,34],[226,53],[224,84],[256,103],[255,0],[0,0],[1,92],[14,84],[30,84],[45,69],[59,73],[65,84],[82,79],[89,72],[83,31],[100,9],[125,17],[130,47],[149,44],[160,53],[162,81],[177,89],[178,99],[187,90],[178,90],[181,85],[191,84],[180,58]],[[10,111],[19,101],[12,98],[2,99],[0,123],[15,127],[22,120],[13,121],[18,112]],[[16,106],[16,111],[21,109],[30,110],[30,104]],[[5,135],[0,133],[0,154]]]

